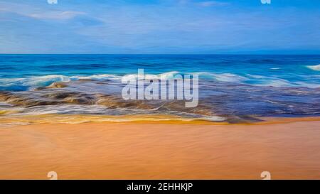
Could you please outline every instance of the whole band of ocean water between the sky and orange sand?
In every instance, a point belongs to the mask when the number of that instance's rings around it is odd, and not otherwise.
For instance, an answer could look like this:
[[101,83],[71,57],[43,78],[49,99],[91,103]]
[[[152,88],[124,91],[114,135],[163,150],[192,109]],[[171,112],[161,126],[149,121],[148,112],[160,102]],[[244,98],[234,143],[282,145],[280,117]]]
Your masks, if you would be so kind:
[[[198,107],[124,101],[121,78],[138,68],[156,75],[197,73]],[[320,115],[320,55],[0,55],[0,91],[0,117],[174,114],[229,122],[311,117]]]

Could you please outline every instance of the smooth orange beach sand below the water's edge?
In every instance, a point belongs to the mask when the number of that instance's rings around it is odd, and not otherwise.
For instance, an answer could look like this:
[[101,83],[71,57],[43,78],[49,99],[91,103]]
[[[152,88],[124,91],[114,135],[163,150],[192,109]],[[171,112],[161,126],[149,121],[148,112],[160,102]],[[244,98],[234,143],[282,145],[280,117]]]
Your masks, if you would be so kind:
[[320,179],[319,150],[319,119],[3,126],[0,179]]

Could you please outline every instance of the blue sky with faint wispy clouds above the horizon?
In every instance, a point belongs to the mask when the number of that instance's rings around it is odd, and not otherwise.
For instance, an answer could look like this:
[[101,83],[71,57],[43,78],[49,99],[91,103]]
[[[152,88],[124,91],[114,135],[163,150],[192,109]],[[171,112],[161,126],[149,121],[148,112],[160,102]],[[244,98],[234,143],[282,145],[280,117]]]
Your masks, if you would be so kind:
[[320,54],[319,0],[57,1],[0,0],[0,53]]

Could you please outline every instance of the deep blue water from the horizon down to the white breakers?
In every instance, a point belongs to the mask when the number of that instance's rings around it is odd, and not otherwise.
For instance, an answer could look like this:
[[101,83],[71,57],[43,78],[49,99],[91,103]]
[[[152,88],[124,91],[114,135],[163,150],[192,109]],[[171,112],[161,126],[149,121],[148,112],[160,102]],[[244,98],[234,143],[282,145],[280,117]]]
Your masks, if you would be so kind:
[[[10,78],[125,75],[138,68],[151,74],[201,72],[206,79],[250,85],[317,87],[319,64],[320,55],[0,55],[0,90],[33,86],[19,87]],[[36,84],[50,82],[43,77]]]

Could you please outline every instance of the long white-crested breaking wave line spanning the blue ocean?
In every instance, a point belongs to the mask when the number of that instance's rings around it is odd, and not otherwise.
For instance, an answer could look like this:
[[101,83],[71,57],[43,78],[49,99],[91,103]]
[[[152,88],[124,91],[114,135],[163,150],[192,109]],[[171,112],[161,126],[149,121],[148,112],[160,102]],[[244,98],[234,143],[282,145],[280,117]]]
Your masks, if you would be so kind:
[[[320,65],[306,66],[311,70],[320,71]],[[152,80],[170,80],[174,79],[175,75],[181,74],[183,72],[171,71],[164,72],[160,74],[144,74],[144,79]],[[317,80],[319,78],[311,77],[313,75],[308,75],[302,80],[290,81],[276,76],[265,76],[265,75],[238,75],[230,72],[187,72],[187,74],[199,75],[200,79],[213,80],[215,82],[230,82],[238,84],[247,85],[257,85],[257,86],[273,86],[273,87],[319,87]],[[302,77],[302,76],[300,76]],[[23,78],[0,78],[0,90],[7,91],[26,91],[30,89],[36,89],[38,87],[47,87],[54,82],[70,82],[77,80],[93,80],[93,81],[111,81],[111,82],[121,82],[122,79],[139,79],[138,74],[127,74],[127,75],[114,75],[114,74],[97,74],[97,75],[43,75],[43,76],[33,76],[33,77],[23,77]]]

